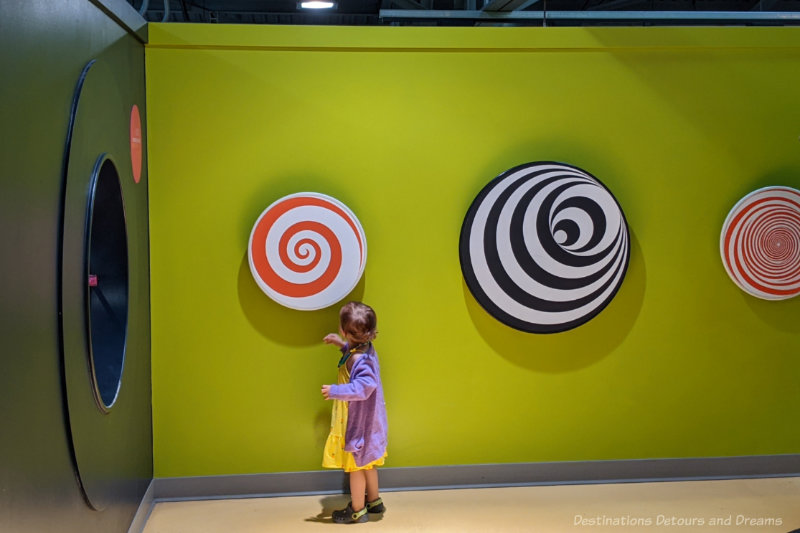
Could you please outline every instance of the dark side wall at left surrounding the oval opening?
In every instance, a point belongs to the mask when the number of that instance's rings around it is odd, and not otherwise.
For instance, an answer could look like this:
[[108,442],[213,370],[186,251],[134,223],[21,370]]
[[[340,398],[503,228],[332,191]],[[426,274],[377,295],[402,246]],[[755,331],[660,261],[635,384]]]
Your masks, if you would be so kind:
[[[126,132],[132,104],[145,117],[142,43],[88,0],[0,2],[0,531],[125,532],[152,478],[146,155],[137,184],[119,140],[84,139],[70,157],[114,152],[119,168],[130,276],[123,382],[107,413],[67,401],[68,391],[93,398],[84,331],[72,329],[82,325],[65,321],[62,335],[59,316],[62,198],[85,201],[85,191],[66,198],[65,142],[76,83],[93,59],[119,91],[104,127]],[[63,285],[85,290],[82,276]],[[63,354],[62,336],[73,342]],[[68,352],[74,364],[65,366]],[[102,484],[95,509],[79,475],[80,446],[97,446],[82,473],[90,492]]]

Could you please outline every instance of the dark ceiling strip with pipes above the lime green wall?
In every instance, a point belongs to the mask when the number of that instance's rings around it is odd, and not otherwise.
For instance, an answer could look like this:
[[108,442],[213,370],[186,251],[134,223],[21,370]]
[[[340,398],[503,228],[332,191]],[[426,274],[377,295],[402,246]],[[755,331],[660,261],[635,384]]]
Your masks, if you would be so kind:
[[151,22],[334,26],[800,25],[798,0],[127,0]]

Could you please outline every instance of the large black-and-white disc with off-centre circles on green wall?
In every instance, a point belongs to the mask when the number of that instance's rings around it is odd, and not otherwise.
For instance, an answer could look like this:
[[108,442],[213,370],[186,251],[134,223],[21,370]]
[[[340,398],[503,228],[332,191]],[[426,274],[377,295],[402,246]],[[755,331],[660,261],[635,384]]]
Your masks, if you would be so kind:
[[589,173],[536,162],[508,170],[467,211],[461,270],[475,299],[531,333],[575,328],[616,294],[630,257],[625,215]]

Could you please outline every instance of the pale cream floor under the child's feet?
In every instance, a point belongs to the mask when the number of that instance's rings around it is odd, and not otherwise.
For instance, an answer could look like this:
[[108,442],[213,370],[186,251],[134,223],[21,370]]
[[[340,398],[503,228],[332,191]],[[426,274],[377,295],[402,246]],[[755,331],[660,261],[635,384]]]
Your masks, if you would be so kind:
[[[800,478],[388,492],[367,524],[331,522],[348,497],[157,503],[144,533],[264,531],[780,532],[800,528]],[[352,531],[348,529],[348,531]]]

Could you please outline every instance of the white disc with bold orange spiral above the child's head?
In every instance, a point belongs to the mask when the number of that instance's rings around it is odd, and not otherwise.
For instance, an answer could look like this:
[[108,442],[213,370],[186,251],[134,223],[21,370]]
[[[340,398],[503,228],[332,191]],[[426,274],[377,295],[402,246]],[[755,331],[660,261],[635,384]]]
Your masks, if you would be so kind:
[[335,304],[355,288],[367,263],[367,239],[340,201],[297,193],[261,213],[247,255],[250,272],[267,296],[311,311]]

